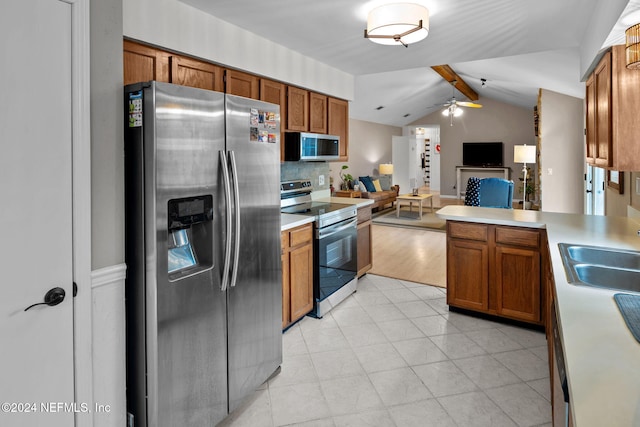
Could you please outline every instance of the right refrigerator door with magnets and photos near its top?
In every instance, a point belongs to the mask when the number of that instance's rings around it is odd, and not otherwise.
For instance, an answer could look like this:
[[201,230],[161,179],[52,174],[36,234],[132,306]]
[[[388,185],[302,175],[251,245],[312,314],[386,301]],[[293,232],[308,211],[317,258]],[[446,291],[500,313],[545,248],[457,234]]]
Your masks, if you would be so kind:
[[228,292],[231,411],[282,363],[279,108],[226,97],[240,213],[237,278]]

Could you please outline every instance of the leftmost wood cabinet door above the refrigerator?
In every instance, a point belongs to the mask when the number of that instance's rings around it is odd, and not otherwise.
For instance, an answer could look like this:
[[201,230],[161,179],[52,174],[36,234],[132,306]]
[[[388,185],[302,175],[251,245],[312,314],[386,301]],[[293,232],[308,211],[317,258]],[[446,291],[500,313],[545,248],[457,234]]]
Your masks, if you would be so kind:
[[124,84],[169,81],[169,54],[129,40],[123,42]]

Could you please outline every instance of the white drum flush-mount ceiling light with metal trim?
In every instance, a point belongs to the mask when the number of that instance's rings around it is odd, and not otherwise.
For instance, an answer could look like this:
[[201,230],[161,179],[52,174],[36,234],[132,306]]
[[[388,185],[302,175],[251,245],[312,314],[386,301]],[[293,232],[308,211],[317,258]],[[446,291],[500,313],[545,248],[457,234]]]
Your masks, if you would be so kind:
[[429,10],[415,3],[391,3],[372,9],[364,37],[374,43],[408,47],[429,34]]

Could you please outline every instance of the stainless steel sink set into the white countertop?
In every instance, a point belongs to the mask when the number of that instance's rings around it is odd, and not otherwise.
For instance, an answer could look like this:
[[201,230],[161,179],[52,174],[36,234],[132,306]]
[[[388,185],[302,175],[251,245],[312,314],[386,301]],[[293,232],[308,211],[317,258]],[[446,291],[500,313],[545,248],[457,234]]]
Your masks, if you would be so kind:
[[640,292],[640,252],[559,243],[569,283]]

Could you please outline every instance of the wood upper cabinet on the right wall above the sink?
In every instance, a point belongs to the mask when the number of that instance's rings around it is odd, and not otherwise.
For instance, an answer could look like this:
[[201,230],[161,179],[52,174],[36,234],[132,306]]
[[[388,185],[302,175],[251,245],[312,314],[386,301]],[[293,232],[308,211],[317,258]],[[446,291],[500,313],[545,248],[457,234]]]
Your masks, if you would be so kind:
[[640,170],[640,75],[626,67],[625,46],[612,46],[586,84],[587,162]]

